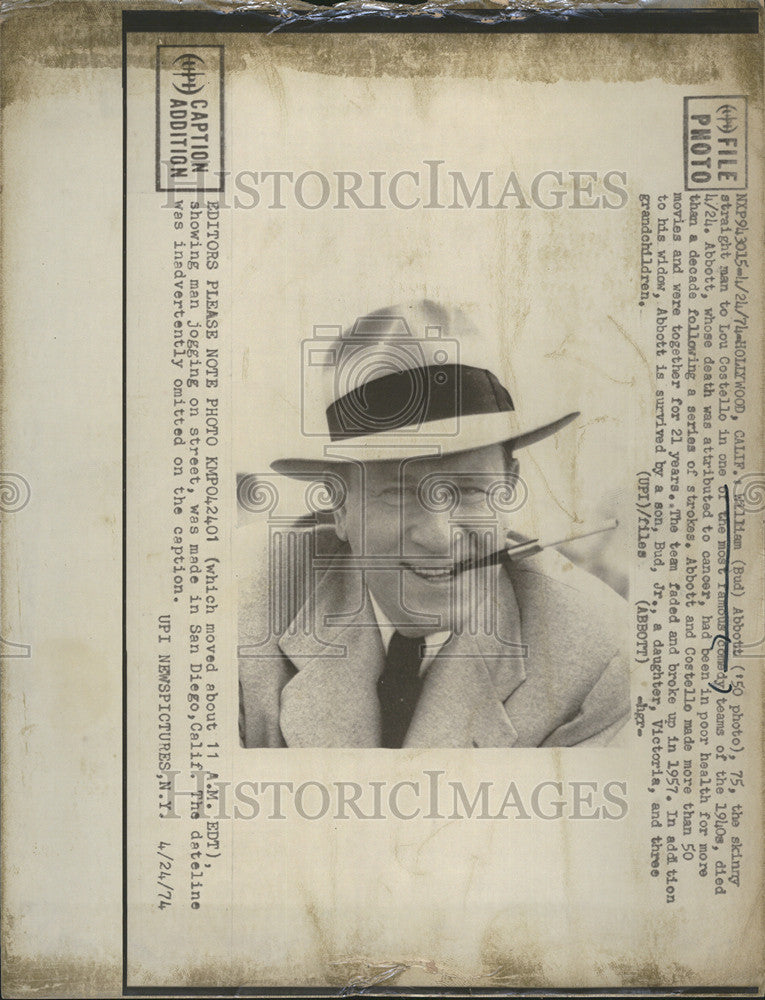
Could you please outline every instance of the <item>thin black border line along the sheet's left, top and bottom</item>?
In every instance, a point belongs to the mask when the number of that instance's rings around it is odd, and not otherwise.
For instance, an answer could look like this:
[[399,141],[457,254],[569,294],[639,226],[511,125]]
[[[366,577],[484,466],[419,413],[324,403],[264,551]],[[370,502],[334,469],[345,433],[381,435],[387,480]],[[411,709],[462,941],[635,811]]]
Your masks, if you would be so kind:
[[[582,10],[530,11],[504,8],[442,8],[428,14],[401,8],[382,11],[340,11],[320,7],[292,14],[255,11],[160,11],[122,12],[122,990],[124,996],[156,997],[337,997],[352,996],[348,987],[289,986],[130,986],[128,967],[128,720],[127,720],[127,38],[142,33],[260,33],[270,31],[345,34],[758,34],[760,10],[756,7],[614,9],[588,7]],[[223,122],[221,122],[221,129]],[[758,987],[576,987],[570,989],[503,989],[493,987],[358,987],[355,995],[421,997],[650,997],[758,996]]]

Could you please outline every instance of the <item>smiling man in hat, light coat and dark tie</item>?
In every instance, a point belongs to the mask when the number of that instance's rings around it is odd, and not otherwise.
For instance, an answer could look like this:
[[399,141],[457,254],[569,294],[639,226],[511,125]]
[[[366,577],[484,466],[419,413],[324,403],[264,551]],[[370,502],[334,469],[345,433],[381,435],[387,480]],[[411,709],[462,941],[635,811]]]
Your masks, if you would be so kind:
[[243,588],[245,746],[606,745],[630,709],[626,603],[547,550],[499,557],[527,427],[461,310],[357,320],[323,353],[327,433],[275,471],[331,523],[280,526]]

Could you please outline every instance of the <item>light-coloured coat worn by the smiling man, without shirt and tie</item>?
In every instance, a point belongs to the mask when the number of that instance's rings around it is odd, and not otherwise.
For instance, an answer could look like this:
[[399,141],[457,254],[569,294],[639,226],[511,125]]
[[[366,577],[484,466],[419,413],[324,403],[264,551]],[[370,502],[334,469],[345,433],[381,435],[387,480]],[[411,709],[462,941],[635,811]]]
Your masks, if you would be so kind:
[[[380,630],[331,527],[290,532],[240,588],[245,747],[377,747]],[[626,602],[546,550],[497,577],[494,626],[428,667],[407,747],[611,743],[630,712]]]

